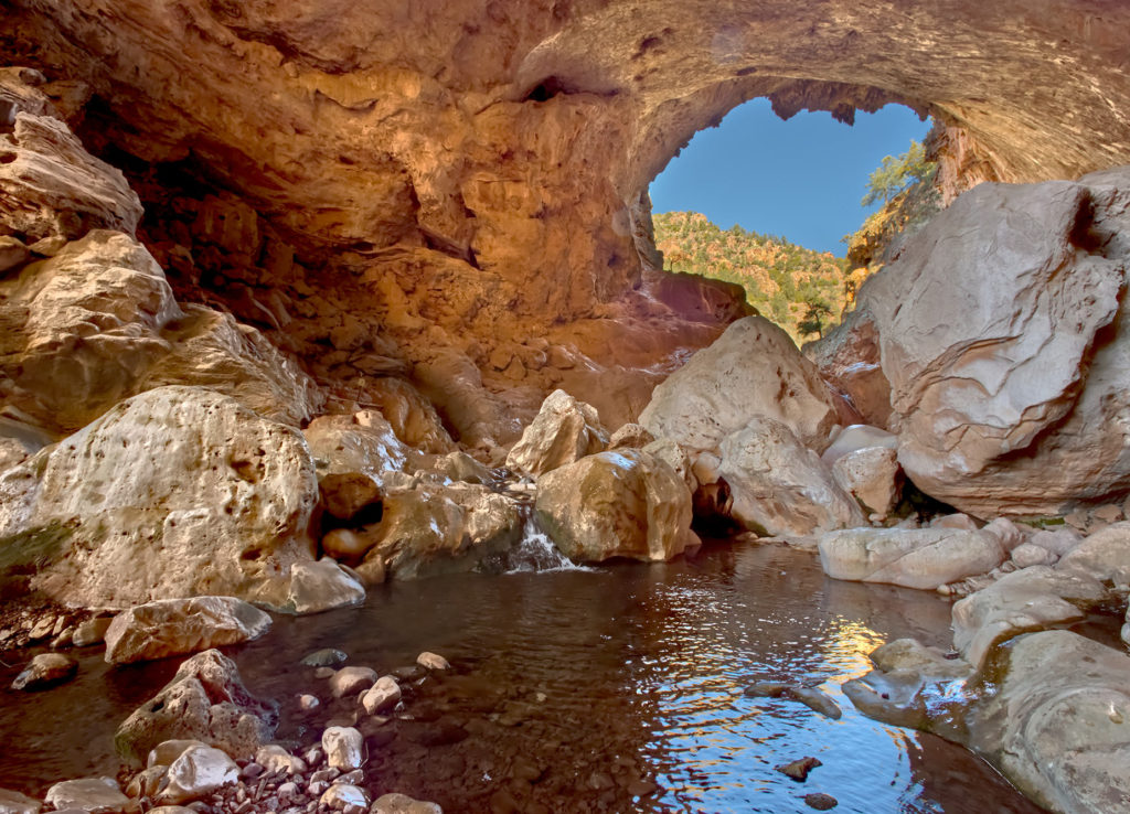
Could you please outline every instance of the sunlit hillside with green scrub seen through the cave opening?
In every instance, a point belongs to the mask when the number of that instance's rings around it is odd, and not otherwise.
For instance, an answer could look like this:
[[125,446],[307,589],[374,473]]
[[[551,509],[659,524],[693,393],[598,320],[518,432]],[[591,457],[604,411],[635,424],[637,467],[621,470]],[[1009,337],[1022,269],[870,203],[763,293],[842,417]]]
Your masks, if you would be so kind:
[[736,282],[762,314],[801,342],[840,321],[847,261],[740,226],[722,230],[698,212],[652,216],[655,245],[671,271]]

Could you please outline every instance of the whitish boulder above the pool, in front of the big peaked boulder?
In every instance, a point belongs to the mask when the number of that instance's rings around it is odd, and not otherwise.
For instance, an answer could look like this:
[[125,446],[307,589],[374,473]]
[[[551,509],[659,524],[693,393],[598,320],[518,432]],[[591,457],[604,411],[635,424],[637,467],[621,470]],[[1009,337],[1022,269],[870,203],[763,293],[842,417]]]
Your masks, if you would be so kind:
[[730,514],[758,534],[808,535],[864,526],[855,500],[789,427],[754,418],[720,446],[718,475],[729,485]]

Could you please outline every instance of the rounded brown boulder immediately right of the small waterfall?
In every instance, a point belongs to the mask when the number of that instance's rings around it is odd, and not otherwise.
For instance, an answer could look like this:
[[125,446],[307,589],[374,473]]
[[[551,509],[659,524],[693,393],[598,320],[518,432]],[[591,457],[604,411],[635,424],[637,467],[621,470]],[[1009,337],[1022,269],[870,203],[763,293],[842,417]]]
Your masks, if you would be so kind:
[[590,455],[538,481],[541,526],[571,560],[669,560],[698,544],[690,491],[666,462],[641,450]]

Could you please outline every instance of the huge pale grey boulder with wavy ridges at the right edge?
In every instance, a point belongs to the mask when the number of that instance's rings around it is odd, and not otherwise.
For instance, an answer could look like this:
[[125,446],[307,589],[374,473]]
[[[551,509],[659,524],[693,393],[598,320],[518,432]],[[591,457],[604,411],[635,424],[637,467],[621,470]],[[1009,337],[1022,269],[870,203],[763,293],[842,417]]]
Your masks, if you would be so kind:
[[982,184],[863,286],[920,489],[988,517],[1130,487],[1128,201],[1125,168]]

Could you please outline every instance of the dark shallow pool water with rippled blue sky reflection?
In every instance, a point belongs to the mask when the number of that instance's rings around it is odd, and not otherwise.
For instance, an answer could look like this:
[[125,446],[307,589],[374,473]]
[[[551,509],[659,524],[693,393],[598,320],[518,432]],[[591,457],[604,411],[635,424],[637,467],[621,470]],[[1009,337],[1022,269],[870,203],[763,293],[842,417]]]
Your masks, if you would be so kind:
[[[449,814],[776,814],[811,811],[802,797],[812,791],[835,796],[837,812],[1038,812],[963,750],[864,718],[840,692],[883,641],[945,644],[948,625],[949,605],[932,595],[836,583],[811,554],[783,548],[719,546],[669,564],[390,584],[360,609],[279,619],[231,653],[252,689],[282,700],[280,735],[295,742],[346,711],[298,665],[307,651],[339,647],[379,671],[423,649],[446,656],[455,674],[411,691],[411,719],[368,732],[367,769],[374,793],[434,799]],[[132,703],[138,693],[122,684],[151,690],[159,672],[124,682],[114,671],[108,693]],[[755,679],[819,686],[844,715],[744,695]],[[90,675],[81,686],[106,692],[105,682]],[[325,706],[299,712],[305,691]],[[0,711],[8,744],[27,729],[12,700]],[[84,737],[104,742],[129,711],[105,715],[112,706],[92,708],[105,717],[85,720]],[[82,749],[60,745],[68,727],[35,717],[56,749]],[[807,782],[774,771],[806,755],[823,763]],[[27,777],[54,779],[36,754],[17,747],[16,759]],[[0,750],[0,786],[21,785],[5,778],[15,770]]]

